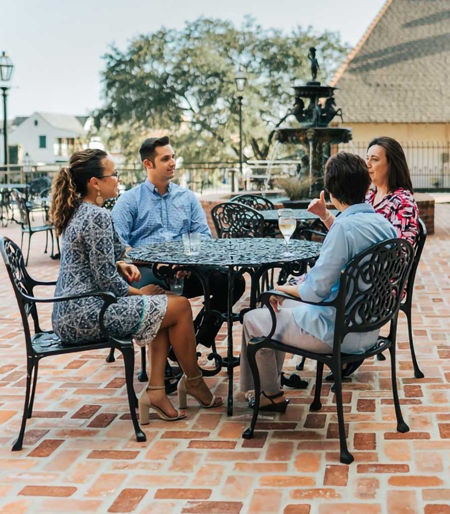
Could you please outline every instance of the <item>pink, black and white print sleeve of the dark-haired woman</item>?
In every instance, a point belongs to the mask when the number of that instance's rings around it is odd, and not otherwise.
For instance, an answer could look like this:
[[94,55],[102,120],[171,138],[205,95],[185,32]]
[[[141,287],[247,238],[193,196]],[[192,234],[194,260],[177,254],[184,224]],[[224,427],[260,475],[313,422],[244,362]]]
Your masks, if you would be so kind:
[[388,217],[401,239],[406,239],[414,246],[419,233],[419,209],[414,197],[406,190],[397,190],[392,198]]

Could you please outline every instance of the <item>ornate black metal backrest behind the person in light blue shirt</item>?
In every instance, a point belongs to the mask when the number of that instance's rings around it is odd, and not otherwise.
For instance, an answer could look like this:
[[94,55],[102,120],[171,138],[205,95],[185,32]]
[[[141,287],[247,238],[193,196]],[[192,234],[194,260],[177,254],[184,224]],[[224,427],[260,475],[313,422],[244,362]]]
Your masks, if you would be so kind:
[[413,260],[407,241],[391,239],[350,261],[336,298],[335,345],[350,332],[376,330],[397,315]]

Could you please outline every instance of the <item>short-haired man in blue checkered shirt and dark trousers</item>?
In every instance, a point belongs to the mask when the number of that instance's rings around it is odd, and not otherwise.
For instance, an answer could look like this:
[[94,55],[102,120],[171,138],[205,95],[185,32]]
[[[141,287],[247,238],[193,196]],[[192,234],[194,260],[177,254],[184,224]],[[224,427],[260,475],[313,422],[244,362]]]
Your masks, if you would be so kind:
[[[200,233],[211,238],[204,210],[197,196],[171,182],[175,172],[175,154],[167,136],[146,139],[139,149],[147,179],[139,186],[123,193],[111,214],[114,226],[127,246],[136,247],[165,241],[179,241],[182,234]],[[141,266],[141,280],[134,284],[142,287],[157,284],[168,289],[167,284],[157,279],[152,268]],[[234,287],[234,302],[245,290],[245,281],[240,277]],[[210,274],[211,308],[220,313],[227,311],[227,273],[214,270]],[[197,277],[186,275],[183,295],[194,298],[203,295]],[[221,323],[215,317],[207,319],[203,309],[194,321],[197,342],[211,346]]]

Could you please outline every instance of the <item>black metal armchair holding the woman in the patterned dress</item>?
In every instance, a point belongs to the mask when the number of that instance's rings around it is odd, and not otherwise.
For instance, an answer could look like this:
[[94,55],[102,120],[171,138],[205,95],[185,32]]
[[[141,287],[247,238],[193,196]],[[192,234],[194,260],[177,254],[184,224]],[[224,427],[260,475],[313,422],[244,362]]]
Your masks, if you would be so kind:
[[[26,270],[22,251],[8,237],[0,238],[0,253],[2,253],[3,260],[5,261],[6,269],[22,316],[27,351],[27,380],[24,413],[22,416],[21,429],[12,450],[17,451],[22,449],[27,419],[31,418],[33,412],[39,361],[44,357],[50,357],[52,355],[86,352],[89,350],[102,350],[103,348],[117,348],[117,350],[119,350],[123,355],[128,405],[136,433],[136,440],[138,442],[145,441],[146,437],[139,427],[135,410],[137,407],[137,398],[133,388],[133,373],[135,365],[133,342],[130,339],[118,339],[111,336],[103,323],[105,310],[109,305],[117,302],[115,295],[111,292],[91,291],[81,295],[66,297],[36,298],[33,295],[34,287],[54,286],[56,282],[42,282],[31,278]],[[98,297],[104,302],[99,315],[99,326],[104,336],[102,341],[85,341],[81,344],[64,343],[56,334],[54,334],[54,332],[44,331],[41,328],[37,314],[37,303],[63,302],[66,300],[75,300],[77,298],[87,297]],[[28,317],[30,315],[33,319],[34,335],[31,335],[28,323]]]

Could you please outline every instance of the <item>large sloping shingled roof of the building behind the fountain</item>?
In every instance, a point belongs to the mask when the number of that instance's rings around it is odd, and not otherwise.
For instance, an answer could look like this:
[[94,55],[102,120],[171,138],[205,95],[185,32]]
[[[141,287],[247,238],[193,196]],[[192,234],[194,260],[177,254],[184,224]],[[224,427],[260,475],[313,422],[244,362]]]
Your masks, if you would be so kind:
[[387,0],[331,85],[344,123],[450,122],[450,0]]

